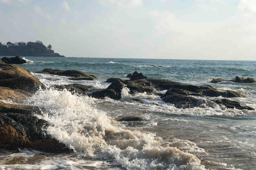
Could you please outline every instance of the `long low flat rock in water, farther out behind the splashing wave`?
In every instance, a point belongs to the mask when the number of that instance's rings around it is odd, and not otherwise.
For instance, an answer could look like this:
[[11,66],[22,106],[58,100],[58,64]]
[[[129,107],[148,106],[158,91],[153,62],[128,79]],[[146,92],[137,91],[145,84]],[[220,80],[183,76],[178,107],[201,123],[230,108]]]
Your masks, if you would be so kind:
[[47,73],[47,74],[53,74],[53,75],[59,75],[59,76],[69,76],[69,77],[84,77],[84,78],[87,77],[87,78],[91,78],[93,80],[95,78],[97,78],[95,75],[89,75],[89,74],[86,74],[85,72],[78,71],[78,70],[55,70],[52,68],[46,68],[38,73]]

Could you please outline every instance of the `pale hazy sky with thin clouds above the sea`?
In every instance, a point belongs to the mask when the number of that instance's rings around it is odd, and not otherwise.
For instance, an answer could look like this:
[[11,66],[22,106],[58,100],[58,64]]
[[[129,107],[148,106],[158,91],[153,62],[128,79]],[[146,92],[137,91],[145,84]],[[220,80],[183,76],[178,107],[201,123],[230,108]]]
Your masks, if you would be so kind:
[[256,0],[0,0],[0,23],[66,57],[256,60]]

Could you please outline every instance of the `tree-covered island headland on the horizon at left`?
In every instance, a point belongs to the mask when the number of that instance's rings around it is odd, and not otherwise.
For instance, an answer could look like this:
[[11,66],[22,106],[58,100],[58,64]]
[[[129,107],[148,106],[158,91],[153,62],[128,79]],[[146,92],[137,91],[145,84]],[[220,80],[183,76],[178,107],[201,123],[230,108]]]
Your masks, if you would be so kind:
[[30,57],[65,57],[52,50],[49,44],[47,47],[41,41],[36,42],[0,42],[0,56],[30,56]]

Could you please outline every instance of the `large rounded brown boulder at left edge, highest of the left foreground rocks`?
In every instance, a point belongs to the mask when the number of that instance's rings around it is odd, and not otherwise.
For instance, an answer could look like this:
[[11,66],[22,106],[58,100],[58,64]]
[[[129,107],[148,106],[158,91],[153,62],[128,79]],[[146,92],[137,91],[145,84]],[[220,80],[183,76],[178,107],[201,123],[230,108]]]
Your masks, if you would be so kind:
[[0,63],[0,86],[35,93],[40,87],[46,88],[38,78],[24,68]]

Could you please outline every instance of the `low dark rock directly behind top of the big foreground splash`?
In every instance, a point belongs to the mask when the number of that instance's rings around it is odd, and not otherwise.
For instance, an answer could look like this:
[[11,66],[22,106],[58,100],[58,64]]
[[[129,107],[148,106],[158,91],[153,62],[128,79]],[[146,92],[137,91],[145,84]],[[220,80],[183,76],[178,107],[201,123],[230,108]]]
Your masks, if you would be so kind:
[[79,95],[86,95],[86,92],[95,89],[95,87],[93,87],[93,86],[87,86],[87,85],[82,85],[82,84],[65,84],[65,85],[54,84],[50,88],[54,88],[59,91],[67,89],[68,91],[72,92],[73,94],[76,93]]

